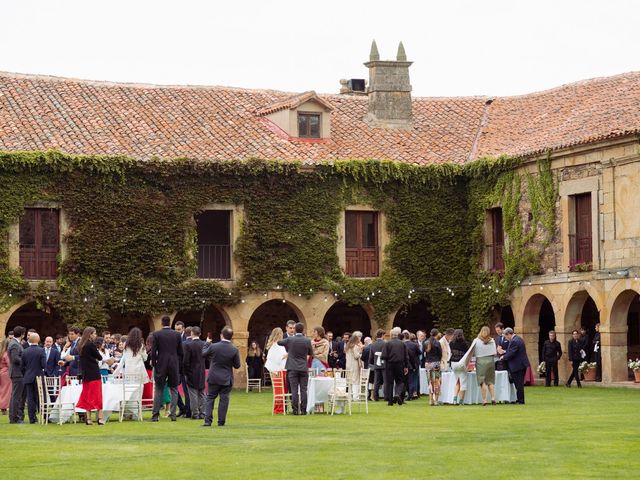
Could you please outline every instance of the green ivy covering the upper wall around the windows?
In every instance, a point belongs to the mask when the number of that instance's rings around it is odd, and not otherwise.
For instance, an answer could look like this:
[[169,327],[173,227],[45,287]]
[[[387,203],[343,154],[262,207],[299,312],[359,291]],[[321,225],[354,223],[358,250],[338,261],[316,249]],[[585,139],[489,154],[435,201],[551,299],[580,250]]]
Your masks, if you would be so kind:
[[[537,273],[540,239],[554,234],[549,162],[533,175],[517,165],[510,158],[464,167],[342,161],[311,169],[262,160],[0,154],[0,308],[29,296],[67,321],[100,326],[112,310],[201,309],[280,287],[370,303],[379,323],[427,300],[441,326],[475,327],[518,281]],[[533,215],[526,224],[523,190]],[[38,202],[61,206],[68,219],[55,287],[29,285],[9,269],[9,228]],[[235,250],[241,278],[230,290],[195,279],[194,214],[212,203],[244,208]],[[369,280],[345,278],[336,251],[340,213],[362,203],[385,213],[391,238],[384,270]],[[495,205],[503,206],[508,238],[503,274],[484,272],[479,261],[484,210]]]

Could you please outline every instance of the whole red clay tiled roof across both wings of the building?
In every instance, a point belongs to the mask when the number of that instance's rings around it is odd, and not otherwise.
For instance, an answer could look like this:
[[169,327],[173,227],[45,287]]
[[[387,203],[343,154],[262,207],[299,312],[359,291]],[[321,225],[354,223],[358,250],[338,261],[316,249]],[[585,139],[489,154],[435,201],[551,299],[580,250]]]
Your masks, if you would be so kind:
[[[333,108],[330,139],[292,141],[261,116],[310,98]],[[113,84],[0,73],[0,150],[57,149],[143,160],[464,163],[640,131],[640,73],[498,98],[489,106],[487,100],[414,98],[412,126],[384,129],[363,121],[368,102],[363,96]]]

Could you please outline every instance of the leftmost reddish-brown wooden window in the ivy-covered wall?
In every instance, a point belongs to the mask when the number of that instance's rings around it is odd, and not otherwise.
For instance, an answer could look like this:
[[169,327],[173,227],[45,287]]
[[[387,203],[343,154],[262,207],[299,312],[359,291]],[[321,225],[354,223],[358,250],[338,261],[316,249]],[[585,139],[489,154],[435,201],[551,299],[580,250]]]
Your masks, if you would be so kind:
[[20,267],[31,280],[53,280],[60,252],[60,212],[27,208],[20,219]]

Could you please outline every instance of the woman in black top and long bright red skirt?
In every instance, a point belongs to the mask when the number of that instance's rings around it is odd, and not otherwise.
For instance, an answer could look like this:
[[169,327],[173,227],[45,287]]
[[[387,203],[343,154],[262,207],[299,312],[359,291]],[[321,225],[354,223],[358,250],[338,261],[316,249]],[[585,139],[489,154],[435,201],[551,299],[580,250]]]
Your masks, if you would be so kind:
[[82,393],[80,393],[80,399],[76,407],[87,411],[84,417],[84,423],[87,425],[92,425],[92,410],[98,411],[98,425],[104,425],[102,417],[102,377],[100,375],[102,355],[100,355],[98,347],[94,343],[96,337],[96,329],[87,327],[82,332],[82,338],[78,343],[80,368],[82,370]]

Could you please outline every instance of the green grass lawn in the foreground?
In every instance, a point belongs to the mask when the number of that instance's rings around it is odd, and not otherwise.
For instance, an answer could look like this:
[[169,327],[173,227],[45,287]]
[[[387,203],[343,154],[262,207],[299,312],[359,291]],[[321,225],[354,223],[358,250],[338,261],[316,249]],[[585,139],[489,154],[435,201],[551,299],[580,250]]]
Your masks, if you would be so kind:
[[640,390],[527,388],[527,405],[272,417],[234,391],[224,428],[201,422],[8,425],[0,478],[552,479],[640,477]]

